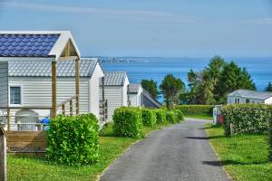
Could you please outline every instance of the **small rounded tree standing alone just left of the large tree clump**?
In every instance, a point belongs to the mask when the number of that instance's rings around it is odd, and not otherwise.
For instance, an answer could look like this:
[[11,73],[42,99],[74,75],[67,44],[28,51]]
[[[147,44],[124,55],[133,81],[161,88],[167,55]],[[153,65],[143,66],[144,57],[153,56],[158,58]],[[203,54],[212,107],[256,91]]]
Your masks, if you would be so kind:
[[180,94],[185,91],[185,84],[172,74],[164,77],[160,84],[160,92],[163,95],[166,107],[169,109],[173,104],[179,103]]

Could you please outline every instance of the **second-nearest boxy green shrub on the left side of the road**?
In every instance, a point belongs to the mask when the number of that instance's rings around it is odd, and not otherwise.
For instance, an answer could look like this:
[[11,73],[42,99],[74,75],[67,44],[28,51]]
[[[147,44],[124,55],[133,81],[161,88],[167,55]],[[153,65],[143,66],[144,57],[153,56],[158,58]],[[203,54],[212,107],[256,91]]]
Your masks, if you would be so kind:
[[113,114],[113,130],[119,137],[143,136],[143,124],[141,119],[141,110],[137,108],[118,108]]

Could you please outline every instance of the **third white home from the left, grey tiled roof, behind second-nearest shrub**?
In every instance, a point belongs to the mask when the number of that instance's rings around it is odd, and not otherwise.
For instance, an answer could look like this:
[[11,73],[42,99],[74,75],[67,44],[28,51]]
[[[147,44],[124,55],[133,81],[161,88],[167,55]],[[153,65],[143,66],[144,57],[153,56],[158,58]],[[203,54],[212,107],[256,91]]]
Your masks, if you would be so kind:
[[[130,81],[126,72],[105,72],[104,74],[104,97],[108,102],[108,119],[112,120],[116,108],[128,106]],[[102,96],[102,89],[100,95]]]

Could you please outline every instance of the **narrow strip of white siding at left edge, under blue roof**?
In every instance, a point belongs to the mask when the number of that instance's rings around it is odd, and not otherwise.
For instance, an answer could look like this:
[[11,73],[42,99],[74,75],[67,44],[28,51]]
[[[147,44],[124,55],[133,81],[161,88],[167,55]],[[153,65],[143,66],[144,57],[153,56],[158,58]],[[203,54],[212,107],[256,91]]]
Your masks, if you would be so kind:
[[0,106],[8,105],[7,62],[0,62]]

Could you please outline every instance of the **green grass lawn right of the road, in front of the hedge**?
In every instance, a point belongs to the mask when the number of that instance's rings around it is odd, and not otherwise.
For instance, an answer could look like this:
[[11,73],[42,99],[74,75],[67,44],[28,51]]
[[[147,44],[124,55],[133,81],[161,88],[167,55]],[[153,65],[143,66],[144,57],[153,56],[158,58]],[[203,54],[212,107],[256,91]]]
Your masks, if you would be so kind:
[[268,162],[267,134],[224,137],[224,130],[206,126],[209,140],[225,170],[234,180],[272,180],[272,162]]

